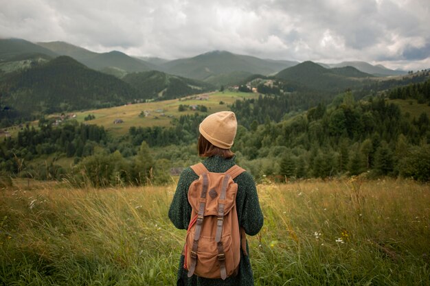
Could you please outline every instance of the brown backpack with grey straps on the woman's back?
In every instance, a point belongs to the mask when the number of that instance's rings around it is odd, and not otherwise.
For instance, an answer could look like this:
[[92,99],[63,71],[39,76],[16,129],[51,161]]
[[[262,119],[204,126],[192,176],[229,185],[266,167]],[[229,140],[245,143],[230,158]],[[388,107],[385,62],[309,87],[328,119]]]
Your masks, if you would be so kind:
[[245,230],[239,229],[236,211],[238,184],[233,179],[244,169],[234,165],[225,173],[212,173],[202,164],[191,166],[199,176],[188,189],[192,206],[185,240],[184,267],[188,277],[234,276],[238,272],[240,248],[247,255]]

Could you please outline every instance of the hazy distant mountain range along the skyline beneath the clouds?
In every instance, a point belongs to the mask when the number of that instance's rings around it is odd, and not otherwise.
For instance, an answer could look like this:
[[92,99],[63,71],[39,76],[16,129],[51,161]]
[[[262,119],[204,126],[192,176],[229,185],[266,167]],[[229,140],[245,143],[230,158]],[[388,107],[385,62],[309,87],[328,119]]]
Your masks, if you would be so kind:
[[[220,76],[220,78],[226,78],[229,73],[238,74],[238,72],[242,72],[273,75],[283,69],[299,64],[299,62],[296,61],[261,59],[253,56],[238,55],[229,51],[210,51],[192,58],[166,60],[155,57],[132,57],[120,51],[95,53],[82,47],[60,41],[37,43],[36,45],[21,39],[0,40],[0,60],[10,60],[14,56],[21,56],[22,59],[25,53],[27,57],[36,53],[44,54],[51,58],[55,58],[59,55],[70,56],[78,60],[78,62],[85,64],[87,67],[97,70],[112,71],[112,69],[120,69],[125,73],[155,70],[179,75],[184,78],[208,80],[211,83],[214,83],[218,76]],[[360,61],[319,64],[323,67],[330,68],[355,67],[364,73],[378,76],[406,74],[405,71],[394,71],[380,64],[374,66],[367,62]],[[215,84],[219,86],[221,83],[215,82]]]

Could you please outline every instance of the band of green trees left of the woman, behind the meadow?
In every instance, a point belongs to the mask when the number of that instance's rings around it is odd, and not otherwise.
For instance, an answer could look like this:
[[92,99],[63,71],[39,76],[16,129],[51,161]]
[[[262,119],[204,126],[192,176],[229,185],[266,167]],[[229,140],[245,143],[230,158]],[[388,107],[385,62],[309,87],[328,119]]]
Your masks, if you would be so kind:
[[[195,143],[205,116],[183,115],[172,122],[172,128],[132,127],[116,139],[99,126],[69,121],[54,127],[52,120],[42,118],[39,128],[27,125],[1,143],[0,170],[8,176],[67,179],[95,187],[166,183],[171,167],[181,169],[196,161],[195,147],[188,146]],[[70,167],[58,163],[65,157],[73,158]]]

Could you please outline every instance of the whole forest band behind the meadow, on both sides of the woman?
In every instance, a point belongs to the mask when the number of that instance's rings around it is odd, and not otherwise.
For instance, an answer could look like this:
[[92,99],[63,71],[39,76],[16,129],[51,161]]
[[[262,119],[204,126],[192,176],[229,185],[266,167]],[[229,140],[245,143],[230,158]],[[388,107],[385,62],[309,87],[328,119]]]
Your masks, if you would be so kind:
[[[352,93],[330,105],[288,115],[281,97],[236,102],[237,163],[256,179],[328,178],[367,174],[430,180],[430,122],[403,115],[383,97],[356,101]],[[73,184],[161,184],[198,160],[196,139],[205,113],[172,119],[170,127],[135,128],[112,138],[103,128],[65,123],[25,127],[1,143],[0,168],[13,176],[67,179]],[[45,163],[50,154],[49,163]],[[56,158],[73,158],[69,168]],[[45,158],[45,159],[43,159]],[[70,160],[69,160],[70,161]]]

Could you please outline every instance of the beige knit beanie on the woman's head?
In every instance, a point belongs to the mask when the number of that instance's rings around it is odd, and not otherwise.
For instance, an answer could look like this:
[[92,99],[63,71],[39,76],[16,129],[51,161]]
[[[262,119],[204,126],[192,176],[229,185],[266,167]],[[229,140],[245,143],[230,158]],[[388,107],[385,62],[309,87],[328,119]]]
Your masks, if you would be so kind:
[[216,147],[230,149],[233,145],[238,122],[231,111],[221,111],[206,117],[199,126],[200,134]]

